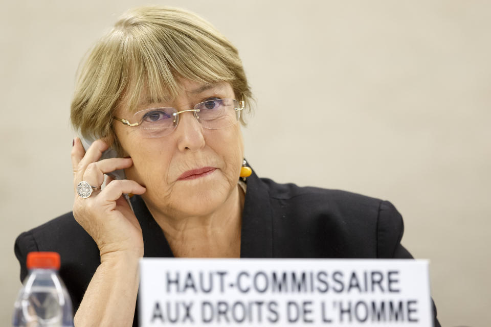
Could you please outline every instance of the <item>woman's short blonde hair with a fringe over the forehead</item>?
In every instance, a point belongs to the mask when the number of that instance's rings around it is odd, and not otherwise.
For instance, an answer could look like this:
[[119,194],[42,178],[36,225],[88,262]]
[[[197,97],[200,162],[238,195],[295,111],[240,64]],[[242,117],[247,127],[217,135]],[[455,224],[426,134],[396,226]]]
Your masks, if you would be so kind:
[[[252,92],[238,51],[208,21],[171,7],[126,12],[88,52],[71,106],[72,125],[85,137],[108,137],[121,151],[113,113],[124,103],[136,110],[144,95],[154,102],[177,96],[178,78],[229,82],[250,112]],[[241,115],[243,116],[243,115]],[[245,125],[245,120],[241,118]]]

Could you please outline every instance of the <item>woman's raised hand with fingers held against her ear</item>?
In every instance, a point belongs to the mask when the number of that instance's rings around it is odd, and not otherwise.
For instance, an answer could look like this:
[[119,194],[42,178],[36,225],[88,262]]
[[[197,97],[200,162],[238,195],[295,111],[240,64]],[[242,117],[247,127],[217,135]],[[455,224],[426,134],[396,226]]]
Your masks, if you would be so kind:
[[101,261],[104,256],[143,256],[142,229],[135,214],[131,211],[125,193],[143,194],[146,189],[133,180],[113,180],[108,178],[102,191],[95,190],[88,198],[82,198],[76,192],[77,185],[86,181],[92,186],[101,186],[104,173],[133,165],[130,158],[110,158],[100,161],[107,144],[98,139],[87,152],[80,139],[74,139],[72,149],[73,185],[75,200],[73,216],[75,220],[94,239],[100,250]]

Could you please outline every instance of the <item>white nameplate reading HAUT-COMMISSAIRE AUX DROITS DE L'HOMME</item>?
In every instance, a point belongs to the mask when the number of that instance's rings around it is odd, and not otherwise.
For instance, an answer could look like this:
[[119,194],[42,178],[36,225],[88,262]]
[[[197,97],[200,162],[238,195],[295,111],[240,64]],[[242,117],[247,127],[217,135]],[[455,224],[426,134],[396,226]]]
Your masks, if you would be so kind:
[[141,326],[432,326],[428,261],[140,261]]

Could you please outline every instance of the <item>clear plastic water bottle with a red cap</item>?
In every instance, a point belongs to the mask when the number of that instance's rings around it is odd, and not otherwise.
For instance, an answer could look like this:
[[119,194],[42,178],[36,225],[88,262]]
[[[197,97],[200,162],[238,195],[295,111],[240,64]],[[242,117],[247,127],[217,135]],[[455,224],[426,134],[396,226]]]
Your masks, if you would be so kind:
[[29,274],[15,301],[14,327],[73,326],[72,301],[61,278],[60,255],[56,252],[30,252]]

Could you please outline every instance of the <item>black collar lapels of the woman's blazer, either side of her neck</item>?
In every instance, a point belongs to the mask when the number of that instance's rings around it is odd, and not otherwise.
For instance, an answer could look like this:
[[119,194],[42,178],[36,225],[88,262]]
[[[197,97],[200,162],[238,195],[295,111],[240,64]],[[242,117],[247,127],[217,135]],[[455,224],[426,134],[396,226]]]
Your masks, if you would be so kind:
[[[164,232],[153,219],[142,197],[135,195],[131,204],[140,226],[144,242],[144,257],[173,257]],[[242,229],[240,236],[240,258],[272,258],[273,217],[267,186],[253,171],[247,178]]]

